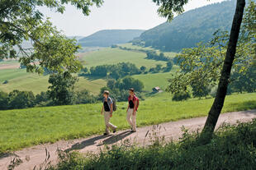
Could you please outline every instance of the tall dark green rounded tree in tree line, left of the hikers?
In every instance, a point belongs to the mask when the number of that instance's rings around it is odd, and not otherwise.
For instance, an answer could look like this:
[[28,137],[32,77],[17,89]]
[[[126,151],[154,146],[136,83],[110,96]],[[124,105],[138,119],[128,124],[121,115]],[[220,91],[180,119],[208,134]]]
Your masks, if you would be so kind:
[[49,77],[49,96],[56,105],[73,103],[73,87],[77,81],[69,72],[53,74]]

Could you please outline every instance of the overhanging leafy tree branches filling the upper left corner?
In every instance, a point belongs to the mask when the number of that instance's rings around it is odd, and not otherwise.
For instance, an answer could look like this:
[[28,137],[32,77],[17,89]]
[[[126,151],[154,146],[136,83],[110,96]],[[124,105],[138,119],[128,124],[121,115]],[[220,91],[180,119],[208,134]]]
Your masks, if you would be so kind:
[[[46,67],[51,71],[77,72],[81,66],[74,55],[79,48],[76,41],[62,35],[38,10],[39,7],[48,7],[63,13],[64,5],[68,3],[88,15],[89,7],[93,4],[99,7],[102,1],[1,1],[0,58],[19,57],[27,71],[42,73]],[[30,40],[33,48],[21,47],[24,40]]]

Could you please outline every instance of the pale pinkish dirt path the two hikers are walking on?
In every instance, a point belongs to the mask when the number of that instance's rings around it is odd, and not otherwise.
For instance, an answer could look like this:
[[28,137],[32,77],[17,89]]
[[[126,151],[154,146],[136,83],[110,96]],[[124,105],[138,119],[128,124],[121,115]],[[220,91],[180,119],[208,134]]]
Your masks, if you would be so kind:
[[[218,126],[224,122],[248,122],[253,118],[256,118],[256,110],[225,113],[220,115]],[[198,128],[201,129],[205,122],[206,117],[198,117],[178,122],[162,123],[157,126],[156,129],[159,131],[159,136],[165,136],[167,140],[178,140],[183,133],[181,131],[182,126],[189,128],[191,131],[196,131]],[[55,162],[57,160],[56,150],[58,148],[68,151],[77,150],[81,153],[95,152],[104,147],[104,145],[118,144],[127,139],[140,145],[147,145],[150,139],[149,136],[145,137],[145,135],[148,131],[152,131],[152,129],[153,126],[145,126],[138,128],[138,131],[135,133],[131,133],[130,131],[118,131],[112,136],[92,136],[86,139],[59,141],[55,144],[36,145],[31,148],[22,149],[14,153],[23,161],[23,163],[15,169],[33,169],[35,165],[43,163],[45,160],[45,148],[50,153],[50,160]],[[6,170],[7,165],[13,158],[13,155],[6,155],[0,158],[0,169]]]

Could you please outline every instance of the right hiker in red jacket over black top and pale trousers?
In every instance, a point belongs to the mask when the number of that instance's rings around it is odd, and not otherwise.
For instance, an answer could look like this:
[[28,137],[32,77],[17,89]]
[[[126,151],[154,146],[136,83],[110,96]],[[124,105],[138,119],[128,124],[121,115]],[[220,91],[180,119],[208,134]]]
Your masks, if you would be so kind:
[[[129,98],[128,98],[128,108],[127,108],[127,116],[126,120],[131,126],[131,131],[136,131],[136,114],[137,109],[139,107],[139,99],[135,95],[135,90],[130,88],[129,90]],[[131,117],[131,119],[130,119]]]

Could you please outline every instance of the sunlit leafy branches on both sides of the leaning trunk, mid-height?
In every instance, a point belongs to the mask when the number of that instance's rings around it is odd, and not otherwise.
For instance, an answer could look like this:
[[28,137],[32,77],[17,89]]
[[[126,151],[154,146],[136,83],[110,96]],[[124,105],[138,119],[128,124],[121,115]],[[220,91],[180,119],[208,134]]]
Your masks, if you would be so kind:
[[[247,7],[244,18],[251,17],[250,7]],[[255,7],[254,7],[255,8]],[[254,29],[248,30],[248,21],[244,19],[239,42],[236,48],[230,84],[233,92],[255,91],[255,69],[252,66],[256,50],[254,49]],[[250,28],[250,27],[249,27]],[[247,36],[248,35],[248,36]],[[216,31],[214,38],[207,44],[197,44],[196,48],[184,48],[177,55],[180,70],[169,80],[168,91],[177,93],[192,87],[193,95],[197,97],[207,96],[211,90],[209,87],[217,85],[220,79],[220,71],[224,63],[227,48],[227,32]],[[243,87],[248,85],[248,87]]]

